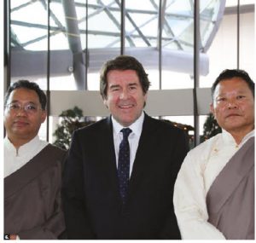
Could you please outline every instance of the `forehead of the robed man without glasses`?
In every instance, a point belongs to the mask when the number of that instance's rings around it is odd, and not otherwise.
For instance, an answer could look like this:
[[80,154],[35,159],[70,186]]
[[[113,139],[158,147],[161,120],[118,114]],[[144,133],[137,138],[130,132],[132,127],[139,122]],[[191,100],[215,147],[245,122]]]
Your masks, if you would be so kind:
[[229,78],[221,80],[216,86],[214,95],[220,95],[230,92],[247,92],[251,91],[245,80],[242,78]]

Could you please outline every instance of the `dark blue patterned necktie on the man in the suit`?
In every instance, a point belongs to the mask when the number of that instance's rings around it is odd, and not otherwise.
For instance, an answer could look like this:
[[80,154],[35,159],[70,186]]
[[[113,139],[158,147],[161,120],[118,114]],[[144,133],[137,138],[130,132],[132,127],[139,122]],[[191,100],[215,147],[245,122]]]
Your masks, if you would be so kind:
[[130,128],[123,128],[123,140],[119,145],[119,163],[118,163],[118,176],[119,176],[119,193],[123,203],[125,203],[126,195],[128,192],[129,172],[130,172],[130,147],[128,136],[131,133]]

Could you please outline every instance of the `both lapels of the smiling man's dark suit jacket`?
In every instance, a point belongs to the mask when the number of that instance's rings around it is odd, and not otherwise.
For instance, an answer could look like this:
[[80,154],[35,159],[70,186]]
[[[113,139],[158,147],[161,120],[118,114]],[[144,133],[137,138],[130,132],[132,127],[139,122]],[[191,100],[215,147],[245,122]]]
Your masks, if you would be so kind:
[[[155,126],[154,119],[150,118],[145,113],[142,135],[138,143],[136,158],[129,182],[128,200],[130,195],[137,189],[137,185],[139,185],[141,180],[144,178],[144,175],[148,173],[148,168],[150,168],[150,163],[152,163],[150,161],[154,161],[154,159],[150,159],[150,151],[152,148],[157,148],[157,139],[155,139],[156,132],[157,127]],[[99,151],[102,151],[102,159],[104,161],[104,165],[102,166],[105,166],[104,171],[108,173],[109,181],[114,193],[117,194],[119,204],[122,204],[119,195],[119,179],[117,175],[116,158],[113,145],[113,124],[111,117],[108,117],[108,119],[106,119],[106,123],[102,126],[102,135],[103,136],[99,136],[98,138],[98,140],[101,139],[99,144],[101,149]]]

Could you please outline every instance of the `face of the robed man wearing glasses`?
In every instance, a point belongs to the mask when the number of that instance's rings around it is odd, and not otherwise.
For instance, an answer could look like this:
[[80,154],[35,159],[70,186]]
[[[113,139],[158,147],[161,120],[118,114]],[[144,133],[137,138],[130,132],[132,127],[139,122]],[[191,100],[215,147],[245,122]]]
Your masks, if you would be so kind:
[[[13,90],[6,104],[4,126],[10,142],[25,144],[37,136],[46,112],[42,110],[36,91],[23,88]],[[9,105],[13,108],[9,108]],[[19,106],[20,109],[15,108]],[[26,111],[24,106],[30,109]]]

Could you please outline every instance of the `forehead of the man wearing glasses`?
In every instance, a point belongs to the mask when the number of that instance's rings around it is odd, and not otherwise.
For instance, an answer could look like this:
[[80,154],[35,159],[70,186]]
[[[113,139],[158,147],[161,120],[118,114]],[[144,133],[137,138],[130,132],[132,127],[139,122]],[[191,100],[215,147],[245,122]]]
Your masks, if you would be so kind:
[[19,88],[13,90],[9,95],[9,101],[39,101],[38,94],[35,90]]

